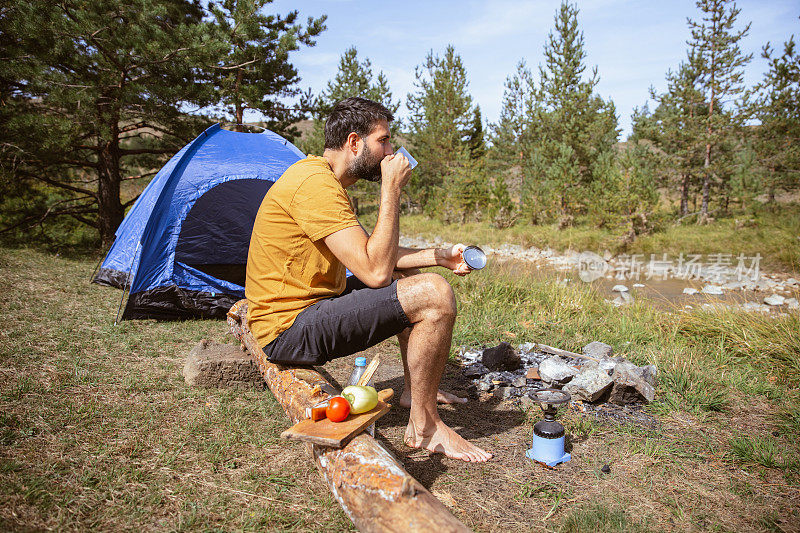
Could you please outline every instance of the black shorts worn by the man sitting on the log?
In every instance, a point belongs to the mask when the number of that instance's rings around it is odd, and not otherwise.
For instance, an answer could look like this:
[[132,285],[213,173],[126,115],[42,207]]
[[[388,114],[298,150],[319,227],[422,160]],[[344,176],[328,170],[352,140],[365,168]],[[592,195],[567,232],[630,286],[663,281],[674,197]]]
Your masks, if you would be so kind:
[[339,296],[302,310],[294,323],[264,347],[273,363],[321,365],[397,335],[411,326],[397,299],[397,281],[371,289],[355,276]]

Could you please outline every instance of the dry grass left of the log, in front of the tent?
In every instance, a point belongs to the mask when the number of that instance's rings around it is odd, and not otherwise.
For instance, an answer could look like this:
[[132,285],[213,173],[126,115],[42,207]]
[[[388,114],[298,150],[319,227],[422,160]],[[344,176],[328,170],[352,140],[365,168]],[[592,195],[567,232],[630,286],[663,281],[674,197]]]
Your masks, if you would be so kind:
[[224,324],[115,327],[94,263],[0,250],[0,529],[350,530],[270,394],[183,383]]

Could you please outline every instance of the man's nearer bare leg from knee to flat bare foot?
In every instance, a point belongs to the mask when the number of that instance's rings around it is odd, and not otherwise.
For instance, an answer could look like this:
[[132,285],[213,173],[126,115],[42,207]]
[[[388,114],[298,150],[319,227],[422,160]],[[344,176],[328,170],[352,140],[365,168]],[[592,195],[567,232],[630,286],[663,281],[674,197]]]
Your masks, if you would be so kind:
[[406,445],[463,461],[487,461],[492,454],[448,427],[436,407],[456,318],[453,289],[437,274],[420,274],[398,280],[397,297],[412,323],[405,358],[411,388]]

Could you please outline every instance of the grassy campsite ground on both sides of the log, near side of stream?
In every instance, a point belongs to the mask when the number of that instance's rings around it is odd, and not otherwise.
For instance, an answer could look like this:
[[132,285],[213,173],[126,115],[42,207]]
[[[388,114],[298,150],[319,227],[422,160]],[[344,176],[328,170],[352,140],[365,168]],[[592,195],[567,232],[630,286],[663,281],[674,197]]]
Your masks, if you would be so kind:
[[[269,393],[184,384],[197,342],[232,342],[225,324],[115,327],[119,292],[88,284],[95,262],[0,248],[0,529],[351,530],[303,447],[279,441],[285,417]],[[659,428],[569,411],[575,449],[563,468],[448,463],[432,488],[480,487],[505,472],[517,481],[502,501],[536,510],[534,529],[759,530],[800,518],[797,314],[617,309],[590,286],[500,265],[448,279],[454,351],[502,340],[580,351],[602,340],[658,366],[647,412]],[[463,496],[459,517],[500,529],[478,505],[495,496]]]

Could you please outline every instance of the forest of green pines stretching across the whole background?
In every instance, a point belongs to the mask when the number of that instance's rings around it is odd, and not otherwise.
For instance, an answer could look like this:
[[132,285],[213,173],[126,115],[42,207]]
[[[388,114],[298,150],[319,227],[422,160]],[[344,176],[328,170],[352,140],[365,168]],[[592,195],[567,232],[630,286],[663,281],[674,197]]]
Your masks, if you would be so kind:
[[[331,106],[347,96],[398,116],[396,145],[421,161],[404,210],[442,223],[602,228],[624,247],[675,224],[708,224],[792,203],[800,186],[800,55],[794,36],[764,43],[768,69],[747,86],[749,23],[728,0],[700,0],[685,58],[620,138],[613,100],[577,5],[556,10],[541,58],[521,58],[502,111],[486,122],[458,51],[431,50],[397,97],[355,47],[327,86],[301,89],[292,54],[325,15],[267,14],[267,0],[50,5],[0,11],[0,237],[98,248],[161,165],[213,122],[258,125],[320,154]],[[124,28],[125,31],[119,31]],[[531,65],[536,63],[536,67]],[[302,130],[302,134],[301,134]],[[359,184],[362,205],[376,195]],[[788,199],[788,200],[787,200]],[[750,217],[750,218],[748,218]]]

